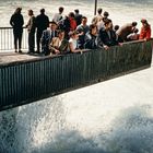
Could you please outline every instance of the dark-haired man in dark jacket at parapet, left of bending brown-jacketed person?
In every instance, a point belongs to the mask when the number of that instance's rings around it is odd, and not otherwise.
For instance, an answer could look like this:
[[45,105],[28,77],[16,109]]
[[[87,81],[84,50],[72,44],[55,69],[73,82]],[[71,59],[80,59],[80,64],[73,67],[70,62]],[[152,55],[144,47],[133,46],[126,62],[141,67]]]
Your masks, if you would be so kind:
[[105,27],[99,30],[97,36],[97,45],[99,48],[104,47],[106,50],[110,46],[119,45],[118,39],[116,37],[116,33],[113,30],[111,20],[106,20]]

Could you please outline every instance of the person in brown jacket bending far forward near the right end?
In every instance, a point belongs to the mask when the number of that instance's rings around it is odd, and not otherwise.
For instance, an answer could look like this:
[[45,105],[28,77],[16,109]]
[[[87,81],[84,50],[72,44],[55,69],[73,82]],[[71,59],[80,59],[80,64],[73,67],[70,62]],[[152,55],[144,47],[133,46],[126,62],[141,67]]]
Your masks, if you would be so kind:
[[120,43],[127,42],[127,36],[132,34],[137,26],[137,22],[128,23],[117,31],[118,39]]

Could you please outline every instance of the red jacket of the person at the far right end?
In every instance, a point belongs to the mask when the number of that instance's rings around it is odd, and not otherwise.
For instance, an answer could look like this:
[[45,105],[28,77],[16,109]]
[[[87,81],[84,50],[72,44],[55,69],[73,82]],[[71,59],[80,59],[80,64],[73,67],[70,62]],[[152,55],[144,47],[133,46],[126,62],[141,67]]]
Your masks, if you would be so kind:
[[151,26],[149,25],[148,27],[142,26],[141,32],[139,35],[139,39],[150,39],[151,38]]

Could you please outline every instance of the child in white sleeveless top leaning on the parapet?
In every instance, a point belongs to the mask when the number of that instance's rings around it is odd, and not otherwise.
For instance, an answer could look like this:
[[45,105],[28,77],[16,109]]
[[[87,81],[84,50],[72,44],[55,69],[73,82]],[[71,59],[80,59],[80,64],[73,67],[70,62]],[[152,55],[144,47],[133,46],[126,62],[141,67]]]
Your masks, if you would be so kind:
[[82,50],[79,49],[79,45],[78,45],[78,39],[79,39],[79,32],[76,31],[71,31],[69,33],[69,51],[70,52],[81,52]]

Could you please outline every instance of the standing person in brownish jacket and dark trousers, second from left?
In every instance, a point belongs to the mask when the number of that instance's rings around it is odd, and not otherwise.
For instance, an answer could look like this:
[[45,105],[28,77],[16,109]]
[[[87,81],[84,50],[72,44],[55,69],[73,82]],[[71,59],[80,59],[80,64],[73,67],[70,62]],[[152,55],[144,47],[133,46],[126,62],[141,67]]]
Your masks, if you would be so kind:
[[36,17],[34,16],[33,10],[28,10],[30,20],[27,22],[27,32],[28,32],[28,52],[34,54],[35,48],[35,28],[36,28]]

